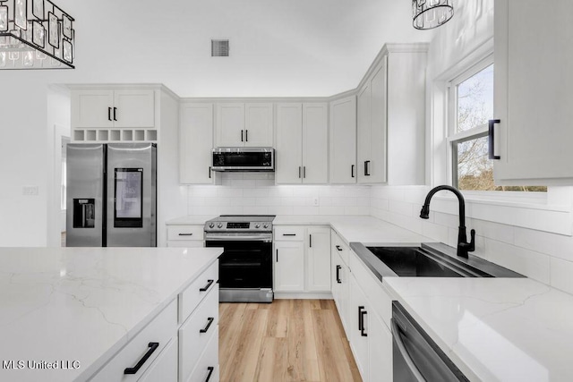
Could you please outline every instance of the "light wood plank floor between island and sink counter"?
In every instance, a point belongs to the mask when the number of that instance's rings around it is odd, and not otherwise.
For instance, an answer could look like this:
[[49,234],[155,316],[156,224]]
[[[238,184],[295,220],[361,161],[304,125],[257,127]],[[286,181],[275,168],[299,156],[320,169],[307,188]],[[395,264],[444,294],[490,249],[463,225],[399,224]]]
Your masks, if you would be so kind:
[[361,381],[332,300],[219,304],[221,382]]

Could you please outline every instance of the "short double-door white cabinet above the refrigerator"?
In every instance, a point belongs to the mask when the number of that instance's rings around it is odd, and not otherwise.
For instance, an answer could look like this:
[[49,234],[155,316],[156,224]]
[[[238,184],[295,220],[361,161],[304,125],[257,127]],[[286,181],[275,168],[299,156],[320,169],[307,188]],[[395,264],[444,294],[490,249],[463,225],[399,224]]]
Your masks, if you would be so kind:
[[85,89],[72,93],[73,128],[152,128],[155,93],[148,89]]

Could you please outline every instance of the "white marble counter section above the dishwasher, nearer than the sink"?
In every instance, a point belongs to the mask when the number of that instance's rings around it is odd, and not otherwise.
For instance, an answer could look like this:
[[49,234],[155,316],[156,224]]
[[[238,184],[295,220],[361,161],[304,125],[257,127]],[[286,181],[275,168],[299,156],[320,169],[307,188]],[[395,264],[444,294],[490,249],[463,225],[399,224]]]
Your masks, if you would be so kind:
[[573,380],[570,294],[528,278],[383,283],[470,380]]

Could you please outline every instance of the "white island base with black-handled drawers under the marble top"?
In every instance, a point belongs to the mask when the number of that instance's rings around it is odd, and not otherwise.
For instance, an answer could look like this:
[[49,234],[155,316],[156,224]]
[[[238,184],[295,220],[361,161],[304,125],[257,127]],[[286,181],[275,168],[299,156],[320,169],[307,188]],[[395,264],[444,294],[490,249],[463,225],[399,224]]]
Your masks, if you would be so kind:
[[88,380],[218,381],[217,279],[215,261]]

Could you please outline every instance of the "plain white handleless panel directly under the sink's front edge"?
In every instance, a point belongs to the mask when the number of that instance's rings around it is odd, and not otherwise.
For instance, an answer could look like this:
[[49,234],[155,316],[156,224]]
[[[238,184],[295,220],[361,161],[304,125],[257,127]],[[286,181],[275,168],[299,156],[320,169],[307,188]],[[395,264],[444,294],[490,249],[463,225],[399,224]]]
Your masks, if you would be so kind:
[[368,296],[372,309],[378,313],[387,327],[390,327],[390,318],[392,318],[392,298],[386,287],[368,269],[363,261],[352,252],[350,255],[350,272],[355,277],[357,284]]

